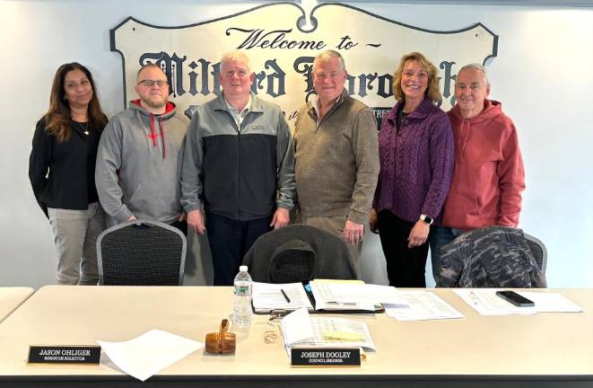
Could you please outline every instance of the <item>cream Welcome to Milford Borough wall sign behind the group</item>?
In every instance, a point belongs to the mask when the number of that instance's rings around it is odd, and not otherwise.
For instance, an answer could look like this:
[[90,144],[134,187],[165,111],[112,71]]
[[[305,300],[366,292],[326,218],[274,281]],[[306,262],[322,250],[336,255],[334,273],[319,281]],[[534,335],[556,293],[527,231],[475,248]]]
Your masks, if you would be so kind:
[[468,63],[495,57],[498,36],[481,23],[459,31],[428,31],[346,4],[261,5],[243,13],[179,27],[128,17],[110,31],[111,50],[123,57],[126,101],[135,98],[135,76],[146,63],[161,66],[170,101],[187,116],[221,93],[222,53],[242,49],[256,79],[251,90],[280,105],[290,123],[313,91],[311,65],[332,48],[344,57],[347,93],[370,106],[380,120],[394,103],[393,73],[399,58],[420,51],[440,69],[441,107],[454,105],[455,75]]

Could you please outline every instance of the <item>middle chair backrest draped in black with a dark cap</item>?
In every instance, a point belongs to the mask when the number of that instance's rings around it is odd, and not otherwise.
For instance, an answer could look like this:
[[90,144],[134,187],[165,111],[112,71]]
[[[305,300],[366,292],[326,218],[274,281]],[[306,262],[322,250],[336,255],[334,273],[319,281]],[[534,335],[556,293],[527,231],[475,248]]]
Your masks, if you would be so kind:
[[295,283],[313,278],[355,279],[352,254],[341,238],[294,224],[259,236],[243,265],[254,281]]

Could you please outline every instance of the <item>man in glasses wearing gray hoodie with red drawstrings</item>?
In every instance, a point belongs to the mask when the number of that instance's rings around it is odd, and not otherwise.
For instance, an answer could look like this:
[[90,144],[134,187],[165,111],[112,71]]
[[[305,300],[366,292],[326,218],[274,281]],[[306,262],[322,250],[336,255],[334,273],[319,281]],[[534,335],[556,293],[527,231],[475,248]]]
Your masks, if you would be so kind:
[[140,98],[110,119],[100,138],[95,170],[100,204],[109,225],[147,218],[187,234],[179,175],[189,120],[168,101],[161,67],[142,66],[135,93]]

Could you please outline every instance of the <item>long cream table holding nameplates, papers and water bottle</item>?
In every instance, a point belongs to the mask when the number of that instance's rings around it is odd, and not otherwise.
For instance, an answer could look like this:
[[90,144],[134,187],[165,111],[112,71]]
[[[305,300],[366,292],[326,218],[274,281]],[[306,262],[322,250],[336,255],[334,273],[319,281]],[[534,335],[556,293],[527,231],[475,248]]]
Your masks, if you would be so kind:
[[189,355],[144,383],[103,357],[100,366],[27,365],[30,345],[130,340],[152,329],[204,341],[231,314],[231,287],[41,288],[0,324],[2,386],[591,386],[593,289],[561,292],[584,313],[482,316],[449,289],[433,290],[465,319],[397,322],[386,314],[350,315],[367,322],[377,346],[361,367],[292,368],[267,316],[234,330],[233,356]]

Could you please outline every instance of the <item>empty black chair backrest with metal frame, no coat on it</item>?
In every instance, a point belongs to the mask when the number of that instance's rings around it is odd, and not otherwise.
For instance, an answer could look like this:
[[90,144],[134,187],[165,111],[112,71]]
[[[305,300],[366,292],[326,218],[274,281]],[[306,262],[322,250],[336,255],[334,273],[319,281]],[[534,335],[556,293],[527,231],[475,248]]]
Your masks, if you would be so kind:
[[186,236],[158,221],[138,219],[110,227],[97,239],[99,284],[181,286]]

